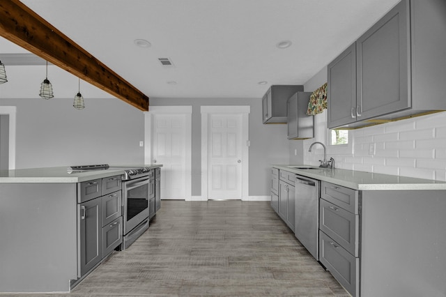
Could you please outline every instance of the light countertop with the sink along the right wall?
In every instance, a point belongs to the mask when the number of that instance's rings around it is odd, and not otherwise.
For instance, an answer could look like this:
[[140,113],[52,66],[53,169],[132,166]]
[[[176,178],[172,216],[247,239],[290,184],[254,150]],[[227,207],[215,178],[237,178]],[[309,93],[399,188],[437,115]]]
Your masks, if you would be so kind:
[[272,165],[272,167],[277,169],[355,190],[446,190],[445,181],[346,169],[296,169],[292,168],[293,166],[305,165]]

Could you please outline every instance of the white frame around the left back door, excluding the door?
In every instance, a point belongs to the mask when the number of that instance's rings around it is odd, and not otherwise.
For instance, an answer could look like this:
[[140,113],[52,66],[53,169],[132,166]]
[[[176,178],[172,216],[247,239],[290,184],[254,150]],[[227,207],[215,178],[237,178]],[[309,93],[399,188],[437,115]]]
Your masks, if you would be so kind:
[[185,126],[185,201],[192,199],[192,106],[151,106],[144,112],[144,162],[152,164],[152,123],[154,114],[184,114]]

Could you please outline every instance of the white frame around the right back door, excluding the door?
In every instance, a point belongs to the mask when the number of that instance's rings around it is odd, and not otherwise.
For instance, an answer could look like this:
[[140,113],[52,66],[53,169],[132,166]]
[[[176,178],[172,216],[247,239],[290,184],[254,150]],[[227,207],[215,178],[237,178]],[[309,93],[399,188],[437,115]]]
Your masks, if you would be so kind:
[[[208,200],[208,121],[210,114],[242,114],[242,200],[249,200],[249,112],[250,106],[201,107],[201,200]],[[245,144],[245,145],[243,145]]]

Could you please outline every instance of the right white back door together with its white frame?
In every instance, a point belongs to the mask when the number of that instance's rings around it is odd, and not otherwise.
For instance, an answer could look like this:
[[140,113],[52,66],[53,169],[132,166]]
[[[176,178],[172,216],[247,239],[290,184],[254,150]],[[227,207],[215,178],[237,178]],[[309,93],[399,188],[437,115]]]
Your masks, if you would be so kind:
[[201,107],[201,196],[248,199],[249,106]]

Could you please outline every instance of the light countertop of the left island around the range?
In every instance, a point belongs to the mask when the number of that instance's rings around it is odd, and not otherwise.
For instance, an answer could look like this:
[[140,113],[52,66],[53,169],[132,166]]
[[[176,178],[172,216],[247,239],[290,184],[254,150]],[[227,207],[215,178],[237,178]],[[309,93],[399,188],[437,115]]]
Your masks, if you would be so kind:
[[162,165],[110,165],[110,167],[113,168],[75,173],[68,173],[68,166],[0,170],[0,183],[79,183],[124,174],[125,167],[156,168]]

